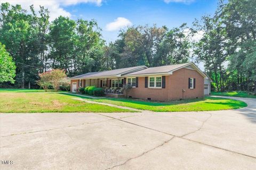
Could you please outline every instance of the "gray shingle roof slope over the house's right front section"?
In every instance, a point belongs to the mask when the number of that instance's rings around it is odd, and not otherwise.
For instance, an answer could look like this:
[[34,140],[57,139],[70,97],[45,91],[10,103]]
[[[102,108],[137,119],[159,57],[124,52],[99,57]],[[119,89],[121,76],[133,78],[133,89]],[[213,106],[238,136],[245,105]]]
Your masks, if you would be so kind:
[[165,65],[165,66],[159,66],[159,67],[149,67],[148,69],[140,70],[140,71],[125,74],[125,75],[167,73],[167,72],[179,69],[180,67],[183,67],[183,66],[186,66],[186,65],[189,65],[189,64],[191,64],[191,63]]

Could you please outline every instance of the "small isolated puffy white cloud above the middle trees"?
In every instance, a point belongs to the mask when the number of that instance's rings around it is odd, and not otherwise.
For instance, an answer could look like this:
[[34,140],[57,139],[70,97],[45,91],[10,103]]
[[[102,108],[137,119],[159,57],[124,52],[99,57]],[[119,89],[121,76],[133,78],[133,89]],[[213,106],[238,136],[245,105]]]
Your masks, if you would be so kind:
[[116,31],[124,27],[131,26],[132,22],[126,18],[118,17],[114,22],[110,22],[106,25],[107,31]]

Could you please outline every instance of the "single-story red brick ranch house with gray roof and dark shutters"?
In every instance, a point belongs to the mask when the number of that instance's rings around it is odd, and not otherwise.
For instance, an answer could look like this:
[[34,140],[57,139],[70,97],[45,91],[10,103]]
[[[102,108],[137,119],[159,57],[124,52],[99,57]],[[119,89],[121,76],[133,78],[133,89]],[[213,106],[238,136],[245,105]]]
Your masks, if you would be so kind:
[[91,72],[70,78],[71,92],[80,87],[122,88],[129,84],[129,97],[146,100],[202,98],[207,76],[193,62],[159,67],[135,66]]

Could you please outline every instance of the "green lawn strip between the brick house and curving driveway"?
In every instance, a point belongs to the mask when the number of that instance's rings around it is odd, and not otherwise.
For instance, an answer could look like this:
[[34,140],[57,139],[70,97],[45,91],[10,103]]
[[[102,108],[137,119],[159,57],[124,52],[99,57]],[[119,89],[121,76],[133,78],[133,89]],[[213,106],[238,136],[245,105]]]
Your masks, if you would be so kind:
[[98,101],[101,103],[109,103],[118,106],[126,106],[154,112],[219,111],[227,109],[237,109],[247,106],[247,104],[243,101],[215,97],[205,97],[204,99],[190,99],[169,102],[154,102],[125,98],[92,99],[87,98],[86,96],[81,98],[86,98],[88,100]]

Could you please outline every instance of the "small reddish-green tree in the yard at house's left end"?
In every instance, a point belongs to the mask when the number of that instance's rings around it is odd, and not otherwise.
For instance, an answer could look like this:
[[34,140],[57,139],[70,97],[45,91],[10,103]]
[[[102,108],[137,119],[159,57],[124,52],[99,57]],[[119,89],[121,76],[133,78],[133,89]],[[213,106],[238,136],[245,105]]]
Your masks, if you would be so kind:
[[67,77],[65,70],[53,69],[51,71],[44,72],[39,74],[40,80],[37,81],[37,84],[45,91],[47,91],[50,85],[53,86],[55,91],[58,91],[60,85],[63,84],[63,79]]

